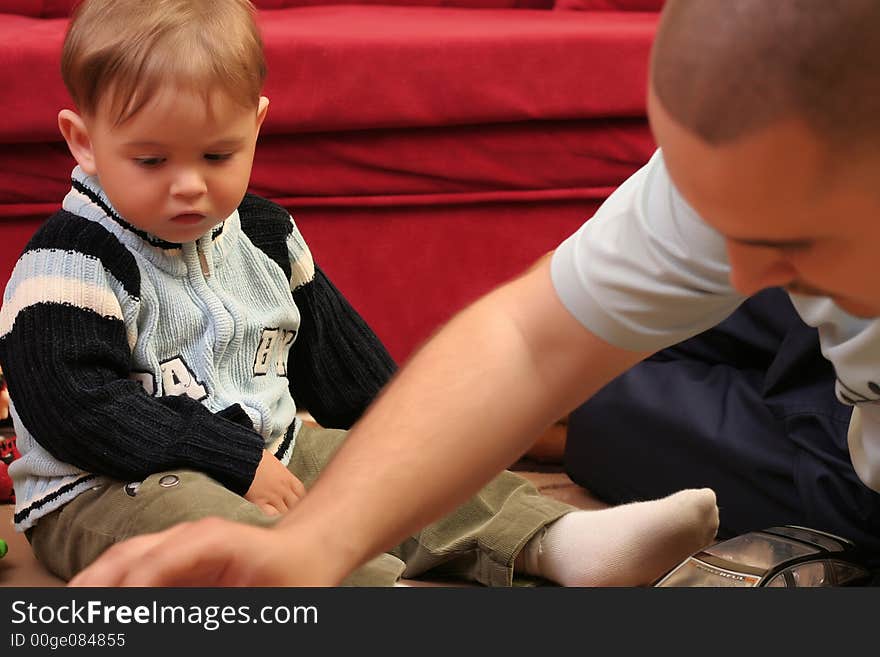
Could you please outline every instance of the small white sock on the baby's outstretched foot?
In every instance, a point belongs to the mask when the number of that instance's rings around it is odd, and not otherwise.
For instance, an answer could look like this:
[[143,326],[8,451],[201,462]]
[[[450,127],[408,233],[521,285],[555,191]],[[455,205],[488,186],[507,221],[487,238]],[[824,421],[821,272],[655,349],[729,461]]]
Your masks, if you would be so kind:
[[566,514],[526,544],[514,568],[562,586],[644,586],[709,545],[716,531],[714,491],[688,489]]

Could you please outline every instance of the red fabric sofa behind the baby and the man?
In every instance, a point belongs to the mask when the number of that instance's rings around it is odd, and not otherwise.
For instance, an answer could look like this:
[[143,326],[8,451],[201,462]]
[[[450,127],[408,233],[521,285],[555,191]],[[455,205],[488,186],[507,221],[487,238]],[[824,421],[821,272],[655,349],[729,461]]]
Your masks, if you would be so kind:
[[[0,3],[0,285],[59,207],[76,0]],[[256,0],[271,100],[252,191],[403,360],[551,250],[654,148],[662,0]],[[441,6],[435,6],[441,5]]]

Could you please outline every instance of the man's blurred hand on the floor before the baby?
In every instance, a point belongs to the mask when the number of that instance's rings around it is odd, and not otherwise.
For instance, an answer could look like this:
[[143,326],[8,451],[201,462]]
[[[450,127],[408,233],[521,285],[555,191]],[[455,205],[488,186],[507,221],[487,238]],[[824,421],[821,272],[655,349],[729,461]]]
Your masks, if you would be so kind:
[[117,543],[69,586],[334,586],[314,546],[297,549],[275,529],[220,518],[175,525]]

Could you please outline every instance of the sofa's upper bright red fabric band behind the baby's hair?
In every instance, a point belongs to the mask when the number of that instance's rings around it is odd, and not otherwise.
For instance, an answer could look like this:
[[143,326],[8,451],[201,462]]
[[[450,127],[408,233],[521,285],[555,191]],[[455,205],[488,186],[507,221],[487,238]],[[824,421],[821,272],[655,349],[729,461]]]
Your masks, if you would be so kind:
[[[328,6],[260,14],[266,134],[644,116],[656,15]],[[0,20],[0,143],[54,141],[66,21]]]

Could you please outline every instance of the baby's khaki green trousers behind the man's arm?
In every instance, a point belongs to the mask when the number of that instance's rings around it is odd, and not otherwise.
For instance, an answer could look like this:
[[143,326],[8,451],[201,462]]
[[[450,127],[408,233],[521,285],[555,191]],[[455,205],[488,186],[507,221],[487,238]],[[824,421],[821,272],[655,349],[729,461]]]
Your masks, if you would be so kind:
[[[290,471],[310,487],[346,435],[304,426]],[[365,564],[344,584],[391,586],[401,576],[430,573],[510,586],[513,562],[526,542],[572,510],[541,495],[522,477],[503,472],[471,500]],[[207,516],[264,527],[279,519],[200,472],[174,470],[139,483],[96,487],[41,518],[27,535],[37,559],[59,577],[70,579],[114,543]]]

